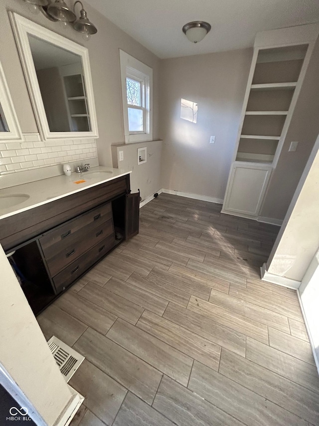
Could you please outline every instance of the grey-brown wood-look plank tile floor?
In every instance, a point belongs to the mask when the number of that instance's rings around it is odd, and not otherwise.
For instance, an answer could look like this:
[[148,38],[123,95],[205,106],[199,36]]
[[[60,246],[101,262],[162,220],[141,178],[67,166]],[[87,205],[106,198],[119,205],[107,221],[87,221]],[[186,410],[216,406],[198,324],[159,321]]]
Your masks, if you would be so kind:
[[260,280],[279,228],[173,195],[39,317],[85,361],[72,425],[319,425],[294,290]]

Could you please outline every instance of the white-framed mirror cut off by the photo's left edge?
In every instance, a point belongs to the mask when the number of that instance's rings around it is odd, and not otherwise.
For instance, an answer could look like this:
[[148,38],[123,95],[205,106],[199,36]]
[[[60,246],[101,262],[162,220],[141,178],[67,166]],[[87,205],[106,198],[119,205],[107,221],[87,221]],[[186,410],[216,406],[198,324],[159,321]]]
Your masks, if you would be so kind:
[[0,141],[22,140],[22,133],[0,63]]

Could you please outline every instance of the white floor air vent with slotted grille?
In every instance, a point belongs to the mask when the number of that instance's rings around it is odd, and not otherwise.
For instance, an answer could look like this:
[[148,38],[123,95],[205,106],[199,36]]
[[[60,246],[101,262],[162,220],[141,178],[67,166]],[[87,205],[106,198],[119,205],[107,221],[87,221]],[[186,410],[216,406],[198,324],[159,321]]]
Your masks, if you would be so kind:
[[80,367],[84,357],[55,336],[48,340],[48,345],[60,372],[68,382]]

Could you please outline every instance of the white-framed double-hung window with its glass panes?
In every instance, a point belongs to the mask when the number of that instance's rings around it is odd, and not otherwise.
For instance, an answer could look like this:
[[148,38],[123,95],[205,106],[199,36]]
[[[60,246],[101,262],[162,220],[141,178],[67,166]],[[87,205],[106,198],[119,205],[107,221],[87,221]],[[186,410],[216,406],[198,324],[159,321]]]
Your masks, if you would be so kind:
[[120,50],[125,142],[152,140],[153,69]]

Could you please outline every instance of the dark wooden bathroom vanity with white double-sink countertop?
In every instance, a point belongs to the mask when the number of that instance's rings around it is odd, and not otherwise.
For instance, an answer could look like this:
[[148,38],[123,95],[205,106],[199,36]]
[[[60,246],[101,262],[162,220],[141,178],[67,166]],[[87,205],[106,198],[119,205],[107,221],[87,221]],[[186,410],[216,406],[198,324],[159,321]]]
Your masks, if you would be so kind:
[[130,172],[101,167],[0,190],[0,243],[35,314],[139,232],[139,198]]

